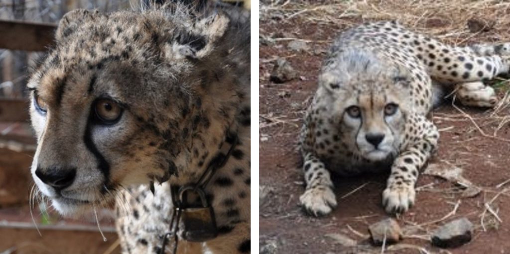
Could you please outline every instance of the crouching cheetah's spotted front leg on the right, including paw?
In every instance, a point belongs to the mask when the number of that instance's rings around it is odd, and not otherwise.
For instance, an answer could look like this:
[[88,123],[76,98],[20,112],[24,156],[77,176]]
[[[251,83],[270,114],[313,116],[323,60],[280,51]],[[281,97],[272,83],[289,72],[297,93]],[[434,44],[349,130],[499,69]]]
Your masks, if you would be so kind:
[[382,206],[388,213],[403,213],[414,205],[418,171],[438,143],[438,129],[425,117],[411,116],[408,123],[406,133],[417,134],[403,143],[403,149],[391,167],[387,187],[382,192]]

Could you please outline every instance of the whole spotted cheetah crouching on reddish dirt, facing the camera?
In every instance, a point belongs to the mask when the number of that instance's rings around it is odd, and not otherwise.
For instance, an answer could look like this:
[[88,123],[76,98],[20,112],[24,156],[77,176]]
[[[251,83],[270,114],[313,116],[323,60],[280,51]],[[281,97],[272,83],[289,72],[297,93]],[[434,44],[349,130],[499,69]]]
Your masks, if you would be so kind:
[[304,117],[299,148],[306,189],[299,201],[320,216],[337,201],[330,173],[390,171],[382,206],[403,213],[415,203],[419,170],[438,145],[426,118],[441,94],[491,107],[497,97],[482,81],[509,69],[508,43],[453,47],[395,21],[365,23],[330,47]]

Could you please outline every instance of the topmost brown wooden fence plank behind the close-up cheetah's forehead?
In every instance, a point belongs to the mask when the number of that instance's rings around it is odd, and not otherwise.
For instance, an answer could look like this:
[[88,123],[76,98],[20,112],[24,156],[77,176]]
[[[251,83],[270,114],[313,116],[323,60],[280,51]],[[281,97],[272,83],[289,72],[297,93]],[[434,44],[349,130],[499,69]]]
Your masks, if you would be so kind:
[[44,51],[54,44],[56,24],[0,20],[0,48]]

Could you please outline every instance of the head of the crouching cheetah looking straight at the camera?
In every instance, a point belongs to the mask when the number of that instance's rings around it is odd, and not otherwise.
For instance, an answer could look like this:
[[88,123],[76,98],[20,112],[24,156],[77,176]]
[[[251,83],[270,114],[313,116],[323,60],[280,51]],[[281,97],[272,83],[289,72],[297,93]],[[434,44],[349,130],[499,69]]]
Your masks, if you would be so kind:
[[343,146],[369,161],[398,153],[410,109],[410,76],[399,67],[383,68],[363,52],[351,52],[323,69],[319,87],[326,110],[338,125]]

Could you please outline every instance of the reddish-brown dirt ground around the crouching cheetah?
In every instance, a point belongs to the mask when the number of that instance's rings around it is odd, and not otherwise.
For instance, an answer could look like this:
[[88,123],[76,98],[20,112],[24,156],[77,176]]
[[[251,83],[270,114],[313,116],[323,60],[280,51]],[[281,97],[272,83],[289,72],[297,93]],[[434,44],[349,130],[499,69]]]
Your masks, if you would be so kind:
[[[320,6],[328,4],[321,2]],[[301,13],[320,10],[316,7],[306,3],[299,6],[284,4],[283,7],[266,3],[265,7],[261,7],[260,185],[267,193],[261,197],[261,244],[275,245],[274,253],[380,253],[380,247],[368,247],[368,225],[389,216],[380,205],[386,175],[336,178],[335,192],[339,205],[325,217],[311,217],[298,206],[304,185],[296,142],[304,110],[316,90],[321,59],[329,42],[339,32],[362,21],[381,19],[363,13],[345,15],[345,22],[331,22],[326,13],[324,16],[299,17]],[[342,12],[342,6],[336,7],[337,13],[346,13]],[[374,9],[380,8],[374,5]],[[469,17],[450,15],[446,18],[446,14],[434,16],[427,11],[430,10],[423,11],[421,21],[414,23],[417,30],[426,33],[427,25],[433,25],[436,37],[456,41],[463,38],[450,33],[452,31],[446,24],[461,18],[464,22]],[[338,18],[338,15],[335,17]],[[403,23],[410,22],[403,20]],[[467,34],[464,36],[467,39],[462,43],[508,37],[507,26],[501,25],[503,23],[496,22],[494,28],[487,32],[471,33],[469,38],[470,32],[466,27],[463,33]],[[295,40],[306,42],[308,49],[289,49],[288,43]],[[299,77],[281,84],[269,81],[277,58],[289,61]],[[507,123],[510,107],[507,98],[503,98],[507,87],[507,81],[497,83],[503,100],[497,110],[463,106],[457,109],[450,101],[430,116],[440,129],[441,138],[439,151],[429,166],[460,167],[464,171],[463,176],[481,191],[466,197],[464,188],[452,181],[421,175],[417,183],[416,205],[397,218],[405,233],[401,243],[407,245],[391,246],[386,251],[510,252],[510,184],[505,182],[510,179],[510,125]],[[486,204],[494,214],[486,208]],[[472,241],[448,250],[431,246],[428,234],[445,222],[460,217],[467,217],[475,225]],[[358,241],[358,245],[348,247],[328,237],[335,233]]]

